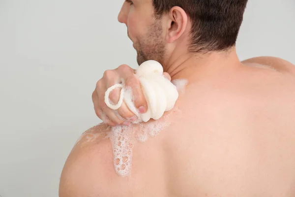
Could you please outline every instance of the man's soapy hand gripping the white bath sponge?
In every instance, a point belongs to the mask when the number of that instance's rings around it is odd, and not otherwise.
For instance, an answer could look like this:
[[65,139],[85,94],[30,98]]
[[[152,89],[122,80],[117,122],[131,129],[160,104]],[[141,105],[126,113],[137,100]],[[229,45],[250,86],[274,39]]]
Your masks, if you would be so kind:
[[[168,73],[164,75],[171,80]],[[138,77],[135,75],[135,70],[127,65],[121,65],[114,70],[106,70],[103,77],[96,83],[96,88],[92,94],[92,101],[96,115],[106,124],[110,126],[126,125],[129,126],[137,117],[129,110],[126,103],[123,102],[118,110],[110,109],[105,101],[105,92],[115,84],[124,80],[125,86],[132,89],[135,107],[140,113],[147,111],[147,101],[144,97]],[[120,97],[120,88],[116,88],[110,93],[110,100],[117,104]]]

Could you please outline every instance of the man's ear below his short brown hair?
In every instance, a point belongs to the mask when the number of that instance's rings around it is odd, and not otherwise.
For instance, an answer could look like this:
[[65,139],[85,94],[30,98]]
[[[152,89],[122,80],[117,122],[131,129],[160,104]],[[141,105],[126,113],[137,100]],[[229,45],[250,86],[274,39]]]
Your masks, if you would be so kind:
[[177,40],[187,26],[187,14],[178,6],[174,6],[168,13],[166,41],[168,43]]

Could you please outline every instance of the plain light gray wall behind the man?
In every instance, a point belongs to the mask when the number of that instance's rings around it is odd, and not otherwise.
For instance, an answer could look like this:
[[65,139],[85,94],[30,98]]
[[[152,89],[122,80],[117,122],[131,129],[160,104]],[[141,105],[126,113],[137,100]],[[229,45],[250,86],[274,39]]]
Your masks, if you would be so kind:
[[[0,196],[58,197],[80,134],[100,123],[91,94],[104,70],[134,68],[117,21],[123,0],[0,0]],[[295,63],[295,1],[249,0],[241,60]]]

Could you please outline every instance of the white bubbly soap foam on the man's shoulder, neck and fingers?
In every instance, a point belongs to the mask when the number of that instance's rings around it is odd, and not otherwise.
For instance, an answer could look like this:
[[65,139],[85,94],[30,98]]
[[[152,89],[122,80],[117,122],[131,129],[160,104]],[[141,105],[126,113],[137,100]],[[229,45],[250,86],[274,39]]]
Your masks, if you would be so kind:
[[[177,91],[184,92],[187,80],[177,79],[172,83],[177,87]],[[132,95],[131,88],[126,88],[125,95],[126,100],[133,103],[131,106],[134,106],[134,97]],[[128,103],[126,104],[128,105]],[[113,164],[115,171],[119,176],[128,177],[131,175],[134,144],[136,142],[146,142],[148,137],[155,137],[160,131],[167,129],[171,124],[167,121],[170,116],[173,116],[176,119],[179,118],[180,111],[177,107],[174,107],[171,111],[165,112],[164,115],[157,121],[150,120],[147,123],[144,123],[142,120],[137,120],[130,126],[107,127],[106,130],[101,130],[101,125],[98,125],[83,133],[80,139],[78,139],[77,144],[80,143],[82,138],[86,138],[86,142],[97,142],[110,138],[113,148]],[[111,130],[111,132],[108,130]]]

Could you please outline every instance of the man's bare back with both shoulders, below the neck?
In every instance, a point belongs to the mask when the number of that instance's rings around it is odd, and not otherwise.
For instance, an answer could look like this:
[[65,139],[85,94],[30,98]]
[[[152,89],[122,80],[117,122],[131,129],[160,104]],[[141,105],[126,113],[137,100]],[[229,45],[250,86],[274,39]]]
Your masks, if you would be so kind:
[[[253,66],[266,60],[274,69]],[[170,125],[134,144],[130,177],[114,170],[107,126],[87,131],[67,159],[59,196],[295,196],[295,68],[275,61],[189,79],[159,120]]]

